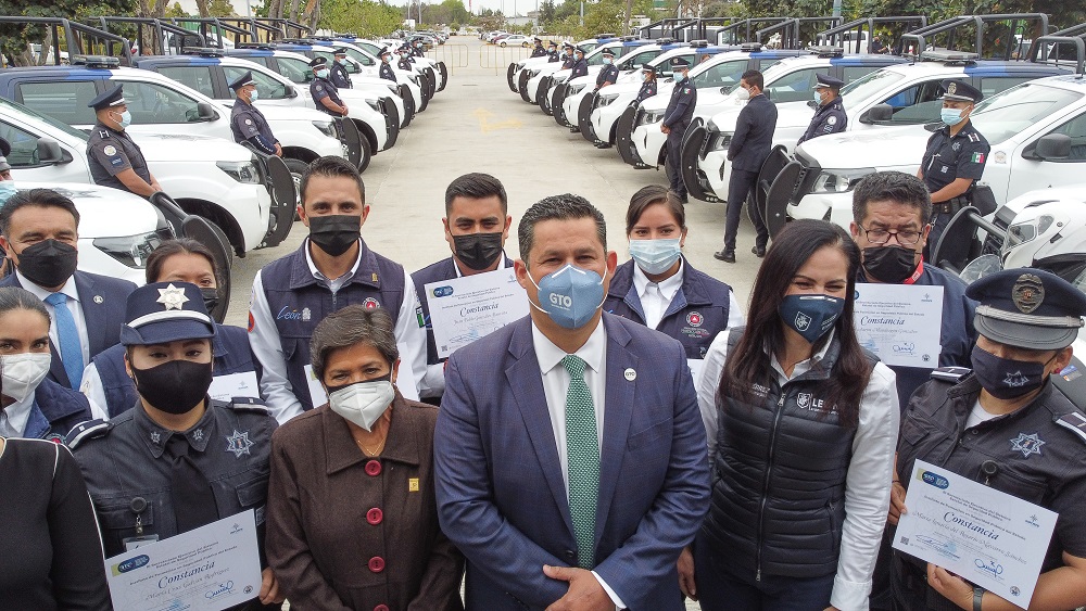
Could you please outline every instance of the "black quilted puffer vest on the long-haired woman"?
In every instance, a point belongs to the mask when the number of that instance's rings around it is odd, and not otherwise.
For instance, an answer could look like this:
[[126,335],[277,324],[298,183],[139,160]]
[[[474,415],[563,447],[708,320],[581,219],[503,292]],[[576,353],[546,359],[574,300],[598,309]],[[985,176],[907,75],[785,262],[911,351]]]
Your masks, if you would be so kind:
[[[742,332],[729,334],[729,358]],[[767,374],[753,389],[762,395],[757,404],[717,397],[711,506],[702,529],[729,550],[737,573],[811,578],[837,571],[856,434],[823,403],[839,349],[834,338],[818,366],[783,387]]]

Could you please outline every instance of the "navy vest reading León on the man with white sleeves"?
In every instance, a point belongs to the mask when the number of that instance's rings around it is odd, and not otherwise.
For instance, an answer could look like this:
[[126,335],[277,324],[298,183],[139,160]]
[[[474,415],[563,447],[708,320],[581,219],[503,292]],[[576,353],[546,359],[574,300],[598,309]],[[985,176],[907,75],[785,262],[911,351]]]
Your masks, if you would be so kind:
[[405,278],[403,266],[370,251],[365,240],[359,240],[362,260],[357,271],[332,293],[310,271],[304,250],[308,244],[308,240],[303,241],[299,250],[269,263],[261,271],[264,295],[287,361],[287,379],[305,410],[314,407],[305,367],[310,365],[310,338],[317,323],[349,305],[367,309],[383,307],[396,320],[404,301]]

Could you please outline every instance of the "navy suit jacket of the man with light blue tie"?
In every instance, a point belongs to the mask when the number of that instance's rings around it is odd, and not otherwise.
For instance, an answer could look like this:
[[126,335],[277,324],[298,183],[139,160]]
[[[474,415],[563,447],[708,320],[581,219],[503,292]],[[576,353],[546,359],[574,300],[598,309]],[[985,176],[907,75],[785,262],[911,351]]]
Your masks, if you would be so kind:
[[[94,358],[105,348],[121,343],[125,307],[128,304],[128,295],[136,290],[136,284],[89,271],[76,271],[74,278],[76,291],[79,292],[79,307],[83,308],[83,317],[87,321],[90,358]],[[23,288],[18,283],[18,276],[14,273],[0,280],[0,287]],[[62,386],[72,387],[67,372],[64,371],[61,354],[52,341],[49,342],[49,352],[53,356],[49,365],[49,379]]]

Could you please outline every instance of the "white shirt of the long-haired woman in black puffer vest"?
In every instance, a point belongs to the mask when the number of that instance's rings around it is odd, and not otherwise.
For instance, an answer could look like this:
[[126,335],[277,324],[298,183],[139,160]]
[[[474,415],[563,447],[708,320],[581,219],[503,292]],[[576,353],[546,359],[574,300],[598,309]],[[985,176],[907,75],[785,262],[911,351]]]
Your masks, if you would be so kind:
[[[721,331],[712,340],[700,377],[695,384],[702,421],[708,436],[709,464],[717,453],[716,395],[720,374],[728,358],[728,334]],[[792,375],[771,356],[776,380],[784,384],[803,375],[825,357],[825,347],[807,360],[797,362]],[[871,575],[882,542],[889,509],[891,481],[894,479],[894,453],[900,423],[897,379],[882,362],[876,362],[860,397],[859,422],[853,436],[853,457],[845,475],[845,523],[841,532],[841,556],[833,578],[830,604],[837,609],[868,609]]]

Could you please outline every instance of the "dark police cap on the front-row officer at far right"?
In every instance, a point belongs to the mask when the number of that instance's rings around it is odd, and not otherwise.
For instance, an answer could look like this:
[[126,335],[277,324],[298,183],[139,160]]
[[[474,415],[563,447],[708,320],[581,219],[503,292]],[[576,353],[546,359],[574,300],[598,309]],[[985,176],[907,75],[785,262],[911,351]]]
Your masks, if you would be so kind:
[[1066,347],[1086,316],[1086,294],[1059,276],[1032,268],[1005,269],[969,285],[980,302],[973,327],[989,340],[1037,351]]

